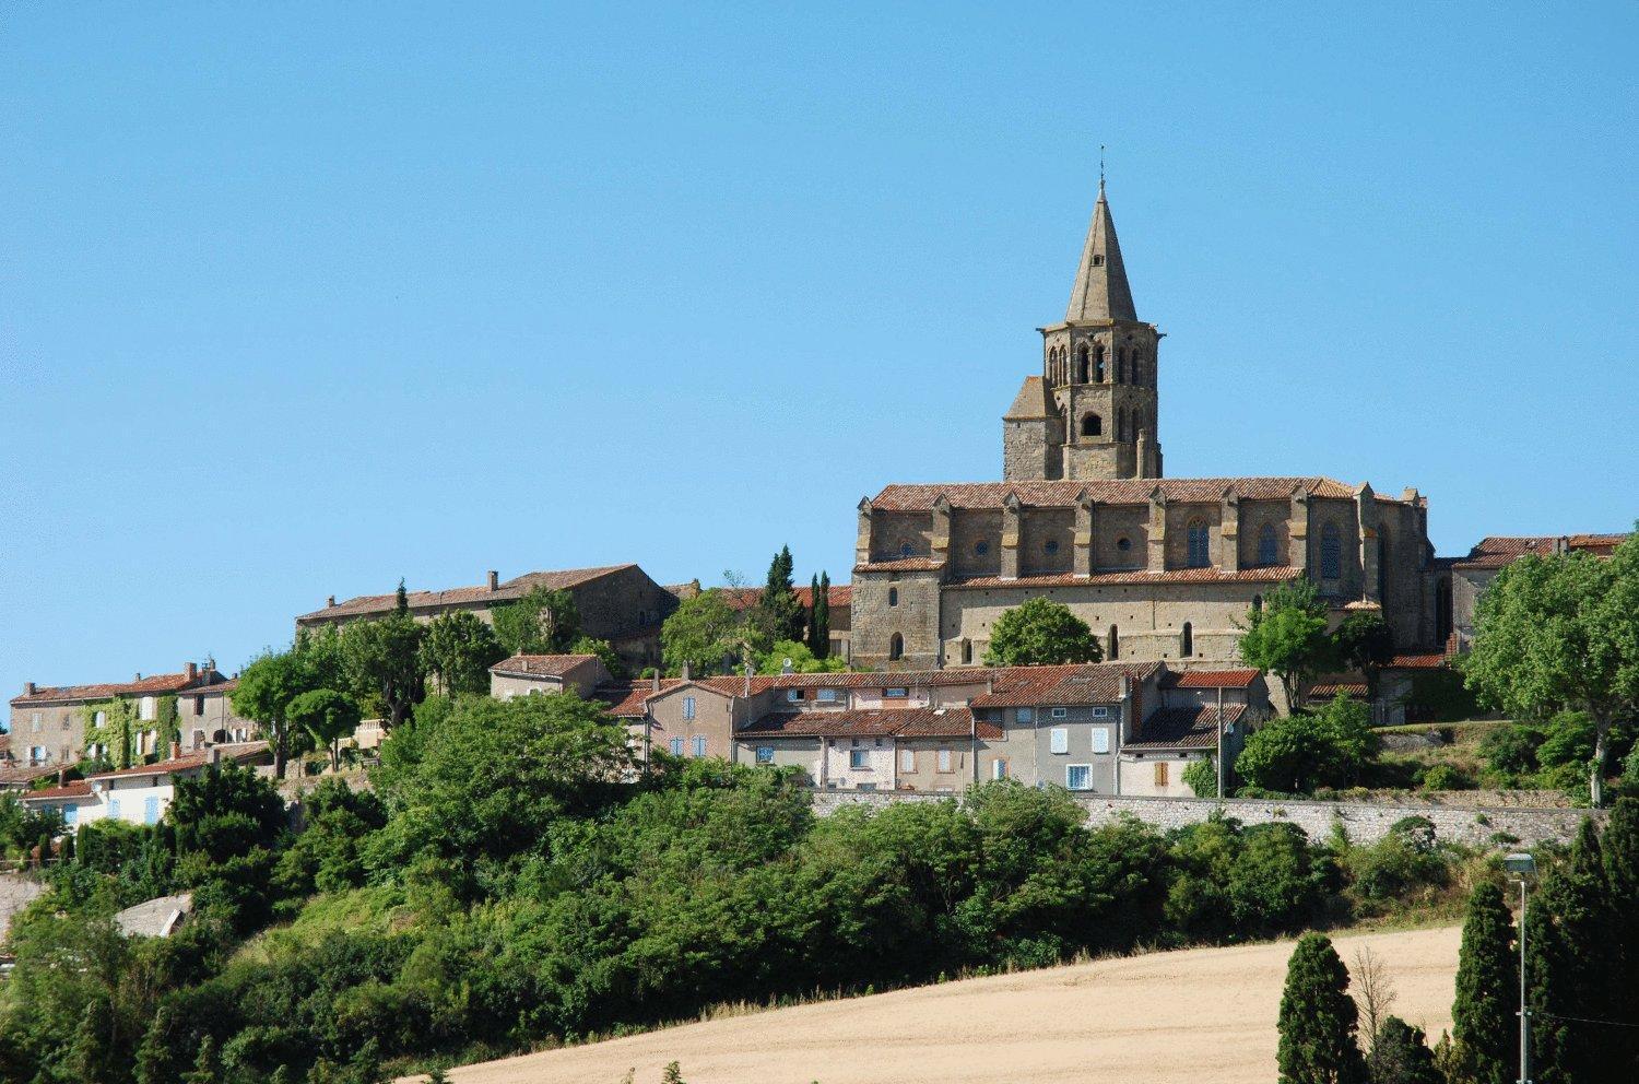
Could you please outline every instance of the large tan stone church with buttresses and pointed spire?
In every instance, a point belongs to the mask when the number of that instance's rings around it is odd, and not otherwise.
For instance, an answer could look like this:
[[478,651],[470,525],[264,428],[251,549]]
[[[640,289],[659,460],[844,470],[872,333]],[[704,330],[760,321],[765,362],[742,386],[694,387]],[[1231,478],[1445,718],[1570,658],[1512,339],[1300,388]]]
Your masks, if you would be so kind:
[[1137,317],[1100,182],[1069,308],[1041,328],[1041,376],[1001,420],[1001,481],[888,485],[859,503],[856,667],[978,663],[995,620],[1036,595],[1085,620],[1106,661],[1221,666],[1247,612],[1300,577],[1334,620],[1382,612],[1401,651],[1444,640],[1414,489],[1164,477],[1160,339]]

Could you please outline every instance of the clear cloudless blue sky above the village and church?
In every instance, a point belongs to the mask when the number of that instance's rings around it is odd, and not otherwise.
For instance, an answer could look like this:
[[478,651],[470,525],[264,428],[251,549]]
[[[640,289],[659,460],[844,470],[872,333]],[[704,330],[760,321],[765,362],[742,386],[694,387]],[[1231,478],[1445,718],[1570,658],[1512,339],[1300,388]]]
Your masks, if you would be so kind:
[[1629,3],[8,5],[0,689],[234,669],[400,576],[846,581],[862,495],[998,477],[1100,143],[1169,474],[1416,485],[1441,553],[1621,530],[1636,46]]

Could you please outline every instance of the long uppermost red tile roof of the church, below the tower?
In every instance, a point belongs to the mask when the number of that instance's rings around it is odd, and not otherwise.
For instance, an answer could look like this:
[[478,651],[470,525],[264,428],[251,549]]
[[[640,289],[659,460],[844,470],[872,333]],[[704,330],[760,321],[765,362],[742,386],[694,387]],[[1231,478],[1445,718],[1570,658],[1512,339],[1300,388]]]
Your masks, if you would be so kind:
[[[1160,489],[1167,500],[1218,502],[1226,490],[1242,500],[1287,500],[1295,490],[1311,497],[1354,499],[1355,490],[1329,477],[1201,477],[1201,479],[1121,479],[1121,481],[1019,481],[1019,482],[949,482],[924,485],[888,485],[872,497],[879,512],[928,512],[942,494],[954,508],[1000,508],[1008,494],[1031,507],[1069,508],[1085,494],[1100,503],[1147,503]],[[1398,503],[1390,497],[1380,497]]]

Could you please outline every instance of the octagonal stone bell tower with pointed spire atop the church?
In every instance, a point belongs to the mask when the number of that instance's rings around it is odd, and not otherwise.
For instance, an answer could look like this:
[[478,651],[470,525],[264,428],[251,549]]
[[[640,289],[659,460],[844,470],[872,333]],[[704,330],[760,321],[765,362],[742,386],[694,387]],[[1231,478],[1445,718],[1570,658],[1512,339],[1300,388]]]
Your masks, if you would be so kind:
[[1137,318],[1103,177],[1064,321],[1039,328],[1042,374],[1003,417],[1006,481],[1160,477],[1160,331]]

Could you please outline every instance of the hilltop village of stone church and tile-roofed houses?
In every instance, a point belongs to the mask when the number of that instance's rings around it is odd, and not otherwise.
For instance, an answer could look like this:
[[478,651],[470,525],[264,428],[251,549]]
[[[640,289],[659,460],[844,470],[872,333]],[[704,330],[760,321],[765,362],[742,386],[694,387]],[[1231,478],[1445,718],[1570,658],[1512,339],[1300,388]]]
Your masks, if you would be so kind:
[[[331,595],[295,618],[295,636],[397,612],[495,626],[508,607],[552,597],[602,653],[515,651],[485,666],[488,692],[574,690],[606,705],[642,758],[659,746],[792,766],[824,790],[957,792],[1013,777],[1188,797],[1192,761],[1233,763],[1247,730],[1296,697],[1342,694],[1369,702],[1375,723],[1416,720],[1416,690],[1467,649],[1501,567],[1532,553],[1609,556],[1624,538],[1495,536],[1441,558],[1416,489],[1388,495],[1313,474],[1167,477],[1162,333],[1139,317],[1103,182],[1069,305],[1039,333],[1041,371],[1001,417],[1001,479],[883,485],[856,510],[852,582],[792,590],[792,628],[813,633],[818,617],[813,654],[844,672],[751,674],[734,658],[695,672],[667,666],[667,620],[703,592],[698,581],[659,584],[638,564]],[[1287,689],[1244,663],[1247,615],[1295,582],[1313,585],[1331,626],[1382,618],[1392,651],[1373,672],[1311,674]],[[759,600],[706,594],[736,612]],[[997,623],[1033,599],[1083,622],[1100,661],[983,666]],[[213,659],[129,681],[56,677],[67,681],[31,681],[11,699],[0,789],[69,825],[156,823],[174,781],[221,758],[284,769],[262,725],[234,707],[238,674]],[[369,756],[392,722],[362,718],[336,746]]]

